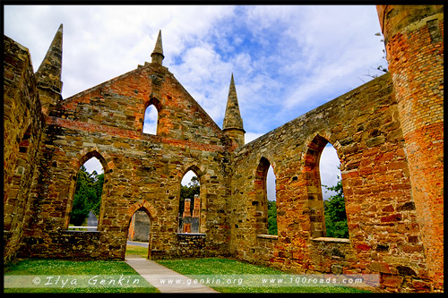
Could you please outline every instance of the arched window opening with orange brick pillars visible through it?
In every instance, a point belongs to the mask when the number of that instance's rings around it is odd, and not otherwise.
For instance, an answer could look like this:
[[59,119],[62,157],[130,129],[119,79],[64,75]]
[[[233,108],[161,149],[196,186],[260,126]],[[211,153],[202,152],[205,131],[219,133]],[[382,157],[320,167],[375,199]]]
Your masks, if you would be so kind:
[[201,185],[192,170],[182,178],[179,199],[178,233],[200,232]]

